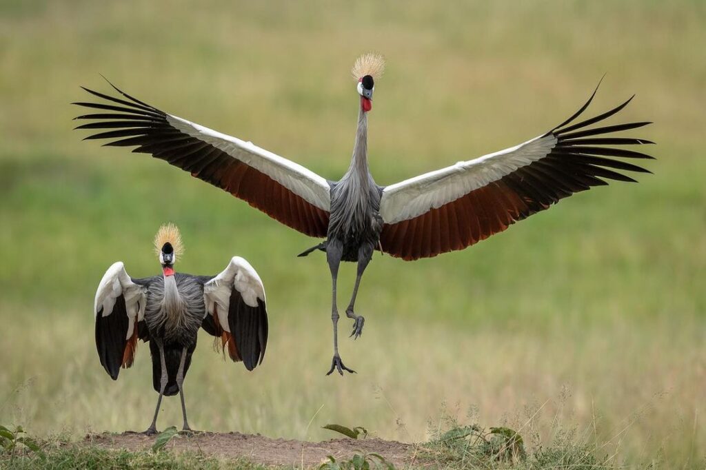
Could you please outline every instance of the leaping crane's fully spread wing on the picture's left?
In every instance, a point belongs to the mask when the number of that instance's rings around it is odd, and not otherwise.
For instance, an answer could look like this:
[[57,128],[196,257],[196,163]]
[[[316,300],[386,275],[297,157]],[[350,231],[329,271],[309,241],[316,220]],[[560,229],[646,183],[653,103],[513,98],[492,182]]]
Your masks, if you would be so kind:
[[166,114],[118,88],[126,100],[84,90],[106,101],[73,103],[100,110],[76,118],[93,121],[77,129],[102,130],[86,139],[136,147],[133,152],[149,153],[189,171],[292,229],[326,235],[330,187],[313,171],[250,142]]

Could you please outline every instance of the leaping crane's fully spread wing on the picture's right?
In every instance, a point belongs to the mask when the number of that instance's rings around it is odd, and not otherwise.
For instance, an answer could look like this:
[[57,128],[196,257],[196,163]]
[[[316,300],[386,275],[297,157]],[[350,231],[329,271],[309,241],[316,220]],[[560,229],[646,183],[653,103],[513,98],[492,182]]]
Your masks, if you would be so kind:
[[652,142],[606,136],[649,122],[587,128],[619,112],[632,97],[570,125],[595,94],[576,114],[537,138],[385,187],[380,202],[383,251],[417,260],[462,250],[561,198],[607,184],[604,179],[635,181],[614,169],[649,173],[616,157],[652,157],[616,145]]

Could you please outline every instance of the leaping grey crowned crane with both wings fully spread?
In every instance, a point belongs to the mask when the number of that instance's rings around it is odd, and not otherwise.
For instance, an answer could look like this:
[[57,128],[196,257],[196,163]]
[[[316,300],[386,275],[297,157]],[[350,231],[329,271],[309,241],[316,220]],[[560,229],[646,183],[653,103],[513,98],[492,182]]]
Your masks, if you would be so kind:
[[377,54],[359,57],[352,68],[359,95],[358,126],[350,166],[338,181],[250,142],[162,112],[114,85],[122,97],[84,88],[105,102],[74,103],[99,111],[78,116],[92,122],[77,128],[100,130],[86,139],[136,147],[133,152],[163,159],[292,229],[325,239],[301,255],[317,248],[326,253],[333,281],[333,359],[328,374],[337,370],[343,375],[343,370],[354,370],[338,354],[336,278],[341,261],[357,263],[345,311],[354,320],[351,336],[357,338],[365,319],[355,313],[355,299],[376,249],[403,260],[462,250],[578,191],[605,185],[606,180],[635,181],[616,170],[649,171],[623,159],[652,158],[618,147],[651,144],[649,140],[614,136],[649,122],[592,126],[619,112],[632,98],[573,123],[593,100],[594,91],[573,116],[532,140],[378,186],[368,167],[368,115],[383,68],[383,58]]

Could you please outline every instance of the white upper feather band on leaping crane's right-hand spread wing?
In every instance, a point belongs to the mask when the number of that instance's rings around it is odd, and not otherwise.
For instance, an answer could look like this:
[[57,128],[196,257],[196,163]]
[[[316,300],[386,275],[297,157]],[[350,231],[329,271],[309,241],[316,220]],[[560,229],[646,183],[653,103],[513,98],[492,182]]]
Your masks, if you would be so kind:
[[541,135],[500,152],[387,186],[380,201],[380,215],[388,224],[422,215],[546,157],[554,145],[554,135]]

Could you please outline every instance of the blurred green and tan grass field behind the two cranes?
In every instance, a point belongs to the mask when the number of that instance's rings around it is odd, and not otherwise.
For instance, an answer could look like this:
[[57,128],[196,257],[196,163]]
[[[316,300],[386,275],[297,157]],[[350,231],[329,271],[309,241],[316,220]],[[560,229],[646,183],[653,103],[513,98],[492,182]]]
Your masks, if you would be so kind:
[[[331,437],[326,423],[426,440],[450,414],[549,440],[574,430],[612,461],[706,458],[706,4],[699,1],[102,2],[0,4],[0,423],[37,435],[142,430],[148,348],[112,382],[93,339],[107,267],[156,274],[152,236],[181,227],[177,270],[249,259],[268,291],[254,373],[201,336],[191,425]],[[312,241],[179,169],[81,142],[100,73],[167,112],[237,135],[330,179],[357,116],[349,68],[388,59],[370,116],[371,170],[390,184],[539,135],[590,108],[654,121],[654,175],[580,193],[466,251],[379,254],[330,365],[330,278]],[[340,277],[347,301],[354,269]],[[348,320],[340,323],[347,334]],[[180,423],[167,399],[160,428]],[[526,440],[530,440],[526,438]]]

